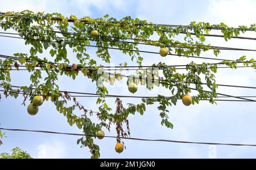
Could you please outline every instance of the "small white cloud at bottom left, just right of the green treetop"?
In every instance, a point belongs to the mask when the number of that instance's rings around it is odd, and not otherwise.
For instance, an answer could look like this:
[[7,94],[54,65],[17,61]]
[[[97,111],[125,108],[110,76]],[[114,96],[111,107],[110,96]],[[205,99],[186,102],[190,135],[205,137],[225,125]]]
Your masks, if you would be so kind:
[[38,146],[39,159],[58,159],[64,158],[66,154],[66,147],[60,141],[53,141],[44,143]]

